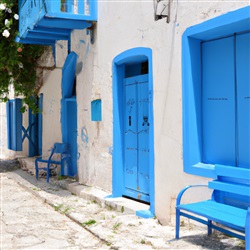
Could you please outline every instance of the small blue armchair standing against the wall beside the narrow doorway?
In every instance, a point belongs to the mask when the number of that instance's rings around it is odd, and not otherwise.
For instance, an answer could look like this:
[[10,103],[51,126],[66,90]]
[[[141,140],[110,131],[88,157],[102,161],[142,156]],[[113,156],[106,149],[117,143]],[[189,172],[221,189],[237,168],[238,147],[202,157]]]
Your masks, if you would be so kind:
[[[53,159],[55,154],[60,154],[60,159]],[[39,162],[47,163],[46,166],[39,167]],[[49,182],[49,177],[51,174],[51,170],[57,168],[58,165],[61,165],[62,168],[65,167],[66,164],[70,163],[70,153],[69,153],[69,145],[67,143],[59,143],[56,142],[54,147],[52,148],[51,154],[48,159],[43,159],[43,157],[39,157],[35,160],[36,167],[36,179],[38,179],[39,170],[44,170],[47,173],[47,182]],[[52,165],[53,164],[53,165]]]

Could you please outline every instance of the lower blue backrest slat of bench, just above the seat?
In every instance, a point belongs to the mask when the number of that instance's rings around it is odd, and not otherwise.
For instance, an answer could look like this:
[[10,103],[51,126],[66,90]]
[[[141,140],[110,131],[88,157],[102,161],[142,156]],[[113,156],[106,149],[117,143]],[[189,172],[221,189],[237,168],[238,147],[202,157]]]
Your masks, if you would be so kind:
[[210,181],[208,182],[208,187],[215,190],[250,196],[250,186],[220,181]]

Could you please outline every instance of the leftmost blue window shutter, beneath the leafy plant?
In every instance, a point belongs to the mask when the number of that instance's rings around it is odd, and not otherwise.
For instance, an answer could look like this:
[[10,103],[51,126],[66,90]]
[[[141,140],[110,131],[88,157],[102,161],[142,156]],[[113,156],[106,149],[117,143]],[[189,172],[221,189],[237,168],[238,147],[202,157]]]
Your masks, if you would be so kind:
[[22,151],[22,100],[10,100],[6,104],[8,149]]

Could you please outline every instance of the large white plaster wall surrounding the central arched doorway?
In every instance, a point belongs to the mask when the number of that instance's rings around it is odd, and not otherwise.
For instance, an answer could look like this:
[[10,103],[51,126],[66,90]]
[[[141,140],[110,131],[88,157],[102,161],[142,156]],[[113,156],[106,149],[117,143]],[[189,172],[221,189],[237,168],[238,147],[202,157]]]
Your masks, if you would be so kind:
[[[246,1],[173,1],[170,23],[154,21],[151,1],[98,3],[95,43],[86,31],[72,33],[79,55],[77,76],[78,174],[81,183],[112,190],[112,60],[134,47],[153,51],[156,216],[169,222],[182,187],[207,180],[183,173],[181,37],[191,25],[246,6]],[[90,102],[102,99],[102,121],[91,122]],[[200,196],[204,191],[200,192]],[[199,195],[197,195],[199,197]],[[190,198],[187,198],[187,200]]]

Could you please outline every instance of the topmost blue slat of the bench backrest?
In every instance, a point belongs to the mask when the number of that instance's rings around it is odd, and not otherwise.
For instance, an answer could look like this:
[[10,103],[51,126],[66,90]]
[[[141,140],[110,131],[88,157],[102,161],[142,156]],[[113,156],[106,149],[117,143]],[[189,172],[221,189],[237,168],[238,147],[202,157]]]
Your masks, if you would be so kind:
[[215,164],[215,172],[218,176],[227,176],[244,180],[250,180],[250,170],[246,168]]

